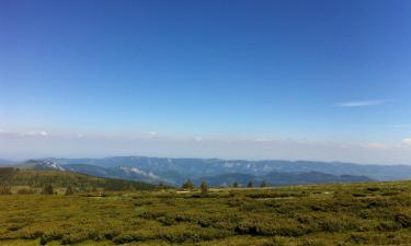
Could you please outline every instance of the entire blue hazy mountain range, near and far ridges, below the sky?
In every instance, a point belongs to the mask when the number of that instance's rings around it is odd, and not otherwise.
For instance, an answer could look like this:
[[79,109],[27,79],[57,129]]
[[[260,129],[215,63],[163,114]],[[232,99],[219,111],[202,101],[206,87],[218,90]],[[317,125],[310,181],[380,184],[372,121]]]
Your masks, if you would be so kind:
[[220,159],[167,159],[114,156],[104,159],[42,159],[15,165],[31,169],[59,169],[98,177],[140,180],[180,186],[187,178],[195,184],[229,186],[233,181],[255,185],[349,183],[411,178],[411,166],[361,165],[340,162],[246,161]]

